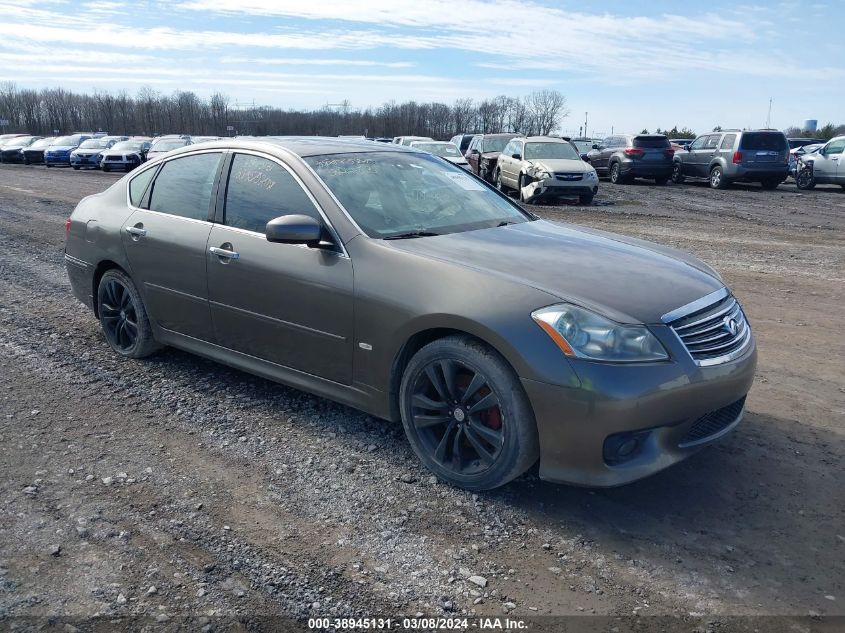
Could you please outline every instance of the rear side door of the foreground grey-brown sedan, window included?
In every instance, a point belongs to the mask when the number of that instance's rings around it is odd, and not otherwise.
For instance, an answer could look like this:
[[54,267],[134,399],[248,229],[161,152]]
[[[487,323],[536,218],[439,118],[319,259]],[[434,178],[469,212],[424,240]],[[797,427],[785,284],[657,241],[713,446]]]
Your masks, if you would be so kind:
[[219,151],[180,156],[135,176],[129,183],[134,211],[121,232],[150,318],[206,341],[213,333],[205,252],[222,156]]

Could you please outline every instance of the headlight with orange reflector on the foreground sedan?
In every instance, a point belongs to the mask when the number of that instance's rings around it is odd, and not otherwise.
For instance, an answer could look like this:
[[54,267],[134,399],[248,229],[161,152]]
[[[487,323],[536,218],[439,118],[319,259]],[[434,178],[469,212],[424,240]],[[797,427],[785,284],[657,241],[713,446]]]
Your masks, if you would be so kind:
[[567,356],[612,362],[669,358],[644,325],[616,323],[568,303],[535,310],[531,318]]

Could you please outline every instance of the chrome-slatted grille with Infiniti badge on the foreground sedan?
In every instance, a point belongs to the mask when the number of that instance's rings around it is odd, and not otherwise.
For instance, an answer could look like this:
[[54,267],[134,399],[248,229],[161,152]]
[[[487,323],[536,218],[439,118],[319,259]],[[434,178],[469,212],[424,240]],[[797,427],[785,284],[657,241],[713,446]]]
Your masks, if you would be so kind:
[[751,342],[751,326],[730,294],[668,323],[699,365],[735,358]]

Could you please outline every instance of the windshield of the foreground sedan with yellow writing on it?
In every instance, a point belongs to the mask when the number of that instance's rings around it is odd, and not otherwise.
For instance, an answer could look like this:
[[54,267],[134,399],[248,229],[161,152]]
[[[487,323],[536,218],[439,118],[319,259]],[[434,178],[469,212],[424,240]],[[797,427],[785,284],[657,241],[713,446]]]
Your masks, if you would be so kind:
[[306,161],[370,237],[459,233],[529,220],[460,167],[426,154],[361,152]]

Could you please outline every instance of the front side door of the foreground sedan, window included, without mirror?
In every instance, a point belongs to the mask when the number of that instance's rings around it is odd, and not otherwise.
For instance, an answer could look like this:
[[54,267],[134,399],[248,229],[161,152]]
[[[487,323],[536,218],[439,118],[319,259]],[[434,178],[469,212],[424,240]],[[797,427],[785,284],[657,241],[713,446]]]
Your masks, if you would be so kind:
[[[218,345],[342,384],[352,382],[352,262],[313,197],[281,161],[232,155],[206,254]],[[275,217],[309,215],[333,244],[268,242]]]

